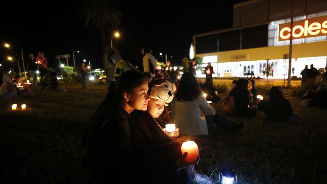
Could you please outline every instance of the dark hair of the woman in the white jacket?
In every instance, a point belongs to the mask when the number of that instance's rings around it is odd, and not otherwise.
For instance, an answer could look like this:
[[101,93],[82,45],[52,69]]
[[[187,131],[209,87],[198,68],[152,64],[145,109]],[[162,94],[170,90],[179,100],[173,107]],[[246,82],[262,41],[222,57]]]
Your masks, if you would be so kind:
[[195,76],[192,73],[184,73],[178,85],[176,99],[178,101],[193,101],[200,93],[201,89]]

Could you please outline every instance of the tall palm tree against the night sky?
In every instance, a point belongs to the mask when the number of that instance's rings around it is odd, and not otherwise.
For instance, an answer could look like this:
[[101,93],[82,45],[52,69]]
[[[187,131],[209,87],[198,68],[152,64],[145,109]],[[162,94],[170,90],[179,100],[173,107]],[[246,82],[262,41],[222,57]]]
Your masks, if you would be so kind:
[[[121,13],[114,6],[116,2],[113,0],[86,0],[85,5],[79,9],[80,18],[85,19],[84,26],[91,24],[97,26],[100,31],[101,48],[102,48],[102,64],[106,69],[106,47],[107,41],[110,39],[106,35],[109,27],[115,27],[121,23]],[[110,32],[111,33],[111,32]]]

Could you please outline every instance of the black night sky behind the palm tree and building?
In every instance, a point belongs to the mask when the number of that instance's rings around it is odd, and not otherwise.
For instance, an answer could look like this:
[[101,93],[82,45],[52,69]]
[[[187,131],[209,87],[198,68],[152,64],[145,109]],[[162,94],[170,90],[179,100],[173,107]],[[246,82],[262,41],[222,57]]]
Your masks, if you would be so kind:
[[[44,2],[11,1],[1,6],[0,42],[21,46],[25,59],[29,53],[43,51],[49,67],[57,69],[54,55],[72,54],[73,50],[81,51],[77,63],[86,58],[94,67],[101,67],[100,34],[96,27],[84,27],[84,20],[79,19],[78,9],[84,1]],[[243,1],[176,2],[117,1],[122,24],[115,28],[121,37],[114,44],[125,50],[129,61],[133,62],[137,48],[143,46],[151,47],[155,56],[168,53],[173,64],[179,64],[188,56],[194,34],[232,27],[233,4]],[[17,51],[1,47],[0,63],[8,64],[7,55],[19,57]]]

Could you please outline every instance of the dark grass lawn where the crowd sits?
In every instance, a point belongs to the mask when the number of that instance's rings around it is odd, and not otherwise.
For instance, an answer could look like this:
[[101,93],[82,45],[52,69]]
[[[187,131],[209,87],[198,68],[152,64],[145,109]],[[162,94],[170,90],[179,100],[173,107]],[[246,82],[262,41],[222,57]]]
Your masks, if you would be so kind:
[[[0,183],[89,183],[80,138],[106,86],[64,87],[66,94],[35,89],[36,97],[0,99]],[[252,119],[229,117],[245,123],[236,133],[211,126],[198,172],[217,180],[229,165],[238,183],[326,183],[327,110],[302,108],[300,99],[288,98],[297,123],[264,122],[259,111]],[[27,104],[27,111],[11,111],[12,103]]]

